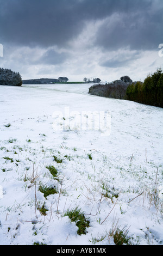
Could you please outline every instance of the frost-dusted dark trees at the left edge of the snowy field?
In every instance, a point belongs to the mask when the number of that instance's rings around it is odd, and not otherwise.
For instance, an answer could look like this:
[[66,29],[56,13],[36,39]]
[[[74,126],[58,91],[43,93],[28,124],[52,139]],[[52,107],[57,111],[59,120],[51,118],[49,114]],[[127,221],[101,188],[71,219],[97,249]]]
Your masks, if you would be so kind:
[[19,72],[0,68],[0,84],[2,86],[22,86],[22,78]]

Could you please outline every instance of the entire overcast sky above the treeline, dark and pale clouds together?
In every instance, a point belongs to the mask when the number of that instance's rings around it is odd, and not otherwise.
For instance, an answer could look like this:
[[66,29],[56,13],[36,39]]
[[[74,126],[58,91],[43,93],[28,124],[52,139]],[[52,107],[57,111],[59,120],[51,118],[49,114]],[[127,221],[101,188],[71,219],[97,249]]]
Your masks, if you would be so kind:
[[22,79],[128,75],[163,69],[162,0],[0,0],[0,67]]

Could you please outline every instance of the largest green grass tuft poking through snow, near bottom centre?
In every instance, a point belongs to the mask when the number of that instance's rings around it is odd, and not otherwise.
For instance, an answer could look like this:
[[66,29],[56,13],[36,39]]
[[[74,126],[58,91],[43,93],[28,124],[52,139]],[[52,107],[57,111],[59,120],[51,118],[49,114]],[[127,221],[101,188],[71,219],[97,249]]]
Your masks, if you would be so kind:
[[89,227],[89,221],[86,220],[81,209],[75,208],[73,210],[67,210],[64,216],[68,216],[71,222],[76,222],[78,227],[78,235],[86,234],[86,228]]

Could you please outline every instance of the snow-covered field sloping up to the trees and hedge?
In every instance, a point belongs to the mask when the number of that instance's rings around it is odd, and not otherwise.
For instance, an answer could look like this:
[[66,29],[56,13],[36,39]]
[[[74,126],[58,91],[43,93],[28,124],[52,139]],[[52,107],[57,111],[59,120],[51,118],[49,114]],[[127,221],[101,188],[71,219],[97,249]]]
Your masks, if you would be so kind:
[[[0,245],[115,245],[116,230],[131,245],[163,245],[163,109],[89,87],[0,86]],[[83,111],[110,115],[108,135],[79,129]],[[45,198],[40,185],[58,192]],[[83,235],[64,216],[77,206],[90,221]]]

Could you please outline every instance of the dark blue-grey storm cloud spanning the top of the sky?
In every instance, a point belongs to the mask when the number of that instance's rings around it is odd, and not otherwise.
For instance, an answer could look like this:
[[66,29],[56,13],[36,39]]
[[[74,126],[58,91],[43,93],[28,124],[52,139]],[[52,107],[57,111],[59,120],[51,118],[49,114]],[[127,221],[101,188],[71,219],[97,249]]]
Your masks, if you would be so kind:
[[162,0],[0,0],[1,43],[65,47],[86,22],[101,20],[95,44],[107,50],[158,47]]

